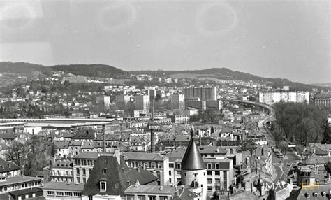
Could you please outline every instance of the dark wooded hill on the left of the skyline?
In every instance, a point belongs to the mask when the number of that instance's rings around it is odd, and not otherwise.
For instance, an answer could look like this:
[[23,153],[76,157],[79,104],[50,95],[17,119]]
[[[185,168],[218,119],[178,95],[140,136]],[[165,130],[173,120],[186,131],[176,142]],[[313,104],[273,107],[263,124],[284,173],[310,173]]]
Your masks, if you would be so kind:
[[127,72],[105,64],[71,64],[43,66],[26,62],[0,62],[0,73],[17,73],[24,76],[42,73],[50,75],[54,71],[64,71],[79,76],[119,78],[126,76]]

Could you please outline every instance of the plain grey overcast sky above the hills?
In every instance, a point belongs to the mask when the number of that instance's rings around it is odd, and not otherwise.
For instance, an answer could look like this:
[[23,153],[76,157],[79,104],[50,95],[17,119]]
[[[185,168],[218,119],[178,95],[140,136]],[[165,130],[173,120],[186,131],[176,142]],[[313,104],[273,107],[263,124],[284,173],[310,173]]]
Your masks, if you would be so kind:
[[0,1],[0,60],[330,83],[330,1]]

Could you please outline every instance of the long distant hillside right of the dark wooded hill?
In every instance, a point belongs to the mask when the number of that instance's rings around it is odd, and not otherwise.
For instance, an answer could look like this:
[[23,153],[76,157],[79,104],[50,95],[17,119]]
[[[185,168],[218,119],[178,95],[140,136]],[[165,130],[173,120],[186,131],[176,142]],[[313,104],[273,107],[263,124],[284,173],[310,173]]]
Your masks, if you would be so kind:
[[[285,78],[263,78],[250,73],[240,71],[232,71],[227,68],[212,68],[202,70],[187,70],[187,71],[130,71],[131,74],[149,74],[152,76],[169,76],[171,78],[198,78],[209,80],[243,80],[264,83],[272,87],[290,86],[291,90],[309,90],[311,91],[314,85],[297,83]],[[322,88],[326,89],[326,88]]]

